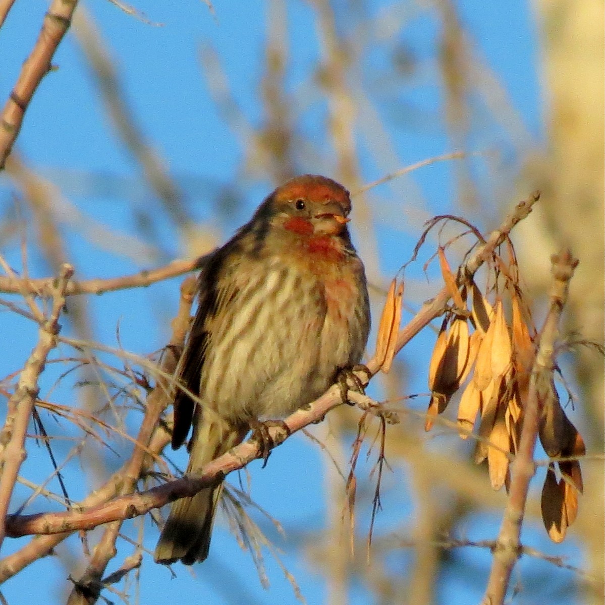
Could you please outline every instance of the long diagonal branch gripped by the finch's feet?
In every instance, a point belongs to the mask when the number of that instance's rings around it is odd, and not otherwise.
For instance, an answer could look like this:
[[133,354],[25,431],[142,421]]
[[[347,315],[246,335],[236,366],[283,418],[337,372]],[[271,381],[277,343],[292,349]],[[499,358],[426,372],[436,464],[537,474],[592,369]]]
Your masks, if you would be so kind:
[[[529,214],[532,205],[537,199],[538,195],[534,194],[528,200],[517,204],[514,212],[504,220],[500,228],[492,232],[486,238],[486,243],[479,246],[471,255],[468,262],[461,267],[460,280],[464,281],[468,279],[484,261],[491,257],[495,247],[503,241],[515,224]],[[448,292],[449,290],[444,288],[432,303],[428,303],[426,309],[423,307],[408,326],[400,331],[397,350],[400,350],[420,330],[420,327],[428,324],[435,316],[443,312],[449,298]],[[441,306],[436,307],[437,303],[441,304]],[[422,325],[419,325],[421,323]],[[375,359],[368,362],[368,368],[373,374],[380,370],[379,363]],[[361,373],[359,378],[361,381],[366,381],[367,377]],[[322,397],[309,404],[308,407],[297,410],[285,419],[285,425],[288,427],[287,433],[282,427],[269,428],[269,434],[274,445],[283,443],[289,435],[322,419],[329,410],[340,404],[342,404],[340,389],[337,385],[333,385]],[[262,452],[260,451],[259,444],[255,440],[248,440],[208,463],[203,468],[203,472],[195,478],[183,477],[183,479],[174,480],[146,492],[125,495],[107,504],[93,506],[85,511],[74,510],[37,515],[15,515],[7,520],[7,533],[12,537],[18,537],[26,534],[71,532],[80,529],[92,529],[102,523],[110,523],[143,515],[151,509],[160,508],[173,500],[196,494],[203,487],[216,482],[217,477],[224,477],[234,470],[243,468],[251,460],[260,456],[262,456]],[[2,579],[1,571],[2,568],[0,566],[0,580]]]

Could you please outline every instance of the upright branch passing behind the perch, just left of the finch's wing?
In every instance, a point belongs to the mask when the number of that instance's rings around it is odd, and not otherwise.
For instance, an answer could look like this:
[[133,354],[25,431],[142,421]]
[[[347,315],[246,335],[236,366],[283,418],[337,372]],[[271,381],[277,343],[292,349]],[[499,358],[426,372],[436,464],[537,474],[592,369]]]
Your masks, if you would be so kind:
[[[191,275],[185,279],[180,287],[180,305],[172,324],[172,337],[164,352],[162,360],[162,373],[168,376],[174,374],[180,351],[189,330],[191,305],[196,293],[196,278]],[[137,435],[136,444],[130,460],[124,467],[122,475],[123,482],[119,495],[131,494],[136,488],[136,483],[141,477],[144,466],[145,454],[153,437],[154,428],[160,419],[162,412],[170,404],[170,384],[161,376],[157,379],[156,386],[147,397],[145,402],[145,416]],[[105,573],[107,564],[115,556],[116,540],[122,526],[122,520],[110,523],[103,532],[101,540],[94,548],[93,556],[87,569],[78,581],[74,583],[67,605],[89,605],[96,603],[101,594],[101,578]]]

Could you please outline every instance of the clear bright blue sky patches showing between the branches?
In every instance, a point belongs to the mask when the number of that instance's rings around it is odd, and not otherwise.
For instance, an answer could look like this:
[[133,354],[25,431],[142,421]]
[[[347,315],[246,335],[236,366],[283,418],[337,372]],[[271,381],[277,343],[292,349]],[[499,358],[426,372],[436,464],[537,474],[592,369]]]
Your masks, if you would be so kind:
[[[345,4],[335,4],[339,15],[343,16],[339,27],[359,25],[352,18],[349,21]],[[178,183],[191,216],[197,221],[208,221],[212,237],[224,241],[237,226],[248,220],[273,184],[266,175],[242,170],[245,157],[241,146],[242,132],[234,133],[226,125],[214,103],[208,82],[202,76],[200,52],[208,47],[216,51],[234,99],[251,125],[257,125],[262,119],[258,80],[263,71],[263,44],[271,3],[219,1],[214,2],[213,11],[197,1],[169,4],[150,0],[144,6],[135,4],[147,19],[161,25],[150,25],[126,15],[110,2],[87,2],[85,6],[96,19],[111,57],[116,59],[117,73],[137,123]],[[314,13],[306,2],[287,2],[286,6],[291,56],[286,83],[294,102],[309,103],[301,125],[321,149],[321,153],[312,156],[301,169],[329,174],[335,163],[325,132],[325,107],[320,101],[308,99],[309,71],[318,53]],[[388,171],[456,150],[451,146],[443,123],[443,91],[438,85],[435,59],[438,24],[434,14],[427,7],[382,0],[371,0],[365,8],[369,16],[382,24],[376,30],[383,36],[383,44],[363,57],[359,82],[355,85],[372,90],[377,117],[391,124],[386,142],[372,136],[375,133],[371,132],[369,114],[362,123],[359,161],[362,180],[369,182]],[[502,94],[510,101],[509,113],[498,115],[484,94],[475,93],[473,100],[475,114],[466,151],[495,149],[500,154],[492,164],[484,158],[469,163],[477,180],[482,209],[474,215],[474,220],[480,228],[488,229],[497,223],[501,204],[511,204],[515,199],[514,182],[524,155],[532,146],[541,145],[543,137],[544,92],[538,73],[537,28],[526,2],[466,0],[458,2],[457,8],[475,57],[489,66],[500,83]],[[44,10],[45,4],[41,2],[17,2],[2,28],[2,98],[10,92],[21,62],[38,34]],[[401,11],[406,13],[402,27],[389,33],[389,19],[396,21]],[[408,79],[391,82],[386,51],[395,48],[415,56],[417,67]],[[55,64],[59,69],[48,74],[42,82],[15,149],[33,169],[61,190],[69,204],[87,217],[83,223],[74,221],[68,206],[59,213],[62,233],[77,275],[81,278],[122,275],[187,255],[188,249],[177,235],[174,224],[145,185],[139,167],[108,123],[98,89],[73,32],[59,48]],[[484,91],[494,97],[500,94],[489,83],[484,85]],[[382,162],[377,162],[369,153],[372,145],[378,143],[384,143],[385,148],[391,150],[383,154]],[[494,166],[498,169],[495,174]],[[257,167],[253,165],[252,168]],[[372,213],[378,234],[382,283],[408,260],[418,237],[417,228],[424,218],[459,210],[453,173],[451,163],[441,163],[382,186],[375,192]],[[237,203],[232,207],[221,205],[219,200],[225,195],[232,195]],[[7,181],[0,180],[2,212],[10,212],[12,204]],[[141,217],[151,217],[153,237],[148,242],[144,241],[140,223],[137,223]],[[83,224],[90,226],[91,221],[124,234],[124,241],[128,239],[128,252],[110,241],[105,241],[105,249],[98,241],[91,243],[82,228]],[[31,247],[31,274],[47,275],[44,259],[33,250],[35,234],[28,229],[27,237]],[[365,234],[354,232],[354,238],[360,243],[360,250],[363,249]],[[21,267],[18,240],[11,240],[7,246],[3,244],[2,252],[13,266]],[[417,266],[412,267],[408,275],[422,280],[422,273],[422,266]],[[121,344],[125,348],[142,355],[157,350],[168,336],[168,318],[176,309],[177,284],[178,280],[171,280],[148,290],[91,298],[90,313],[97,326],[96,338],[115,345],[116,326],[119,325]],[[430,287],[422,286],[422,281],[418,284],[419,293],[415,299],[413,294],[410,298],[413,303],[421,302],[422,296],[426,298],[430,292]],[[10,334],[12,341],[10,351],[0,351],[0,376],[5,376],[19,367],[21,361],[17,360],[27,356],[35,330],[27,322],[16,323],[12,316],[7,317],[7,313],[1,314],[0,326],[3,332]],[[405,363],[414,368],[406,385],[409,393],[426,391],[426,373],[420,369],[426,364],[416,363],[417,359],[427,358],[432,339],[431,333],[427,332],[415,341],[414,352],[403,353]],[[53,375],[56,373],[46,379],[45,389],[51,387]],[[374,389],[374,394],[379,395],[378,387]],[[63,396],[73,397],[74,391],[66,388]],[[423,403],[415,405],[417,410],[424,408]],[[443,447],[443,443],[450,442],[441,442],[439,446]],[[107,452],[103,455],[110,466],[121,463]],[[173,454],[173,457],[184,465],[184,453]],[[296,461],[294,481],[293,460]],[[322,526],[324,500],[318,499],[316,494],[322,494],[325,489],[322,472],[326,464],[316,447],[297,437],[279,448],[262,472],[259,472],[258,463],[251,465],[253,495],[288,529],[291,542],[279,538],[276,541],[283,549],[286,567],[297,578],[311,604],[325,602],[326,586],[318,573],[322,562],[316,561],[315,568],[309,569],[292,544],[306,529]],[[24,466],[24,474],[26,469],[32,476],[48,473],[44,451],[33,451]],[[77,469],[66,472],[77,476]],[[396,471],[388,482],[392,489],[385,494],[384,512],[378,522],[380,531],[397,529],[402,517],[414,514],[414,502],[405,489],[405,473]],[[81,495],[84,494],[85,486],[74,485],[73,497],[78,497],[79,489],[82,489]],[[489,489],[487,480],[486,489]],[[20,488],[18,495],[21,494],[24,497],[27,491]],[[36,503],[32,510],[43,508],[44,502]],[[362,525],[368,520],[368,510],[360,512],[358,523]],[[466,537],[494,537],[497,526],[498,517],[477,516],[466,525]],[[572,564],[581,564],[580,553],[572,540],[566,546],[555,548],[541,527],[537,530],[524,532],[531,536],[536,548],[557,555],[568,554]],[[156,539],[157,529],[145,522],[145,546],[153,549]],[[4,548],[12,550],[25,541],[10,541]],[[68,548],[69,552],[64,546],[59,549],[67,560],[79,552],[77,537],[72,538]],[[124,541],[119,548],[122,557],[131,554],[131,546]],[[483,593],[488,555],[485,551],[461,549],[454,551],[454,556],[459,557],[458,569],[468,573],[445,574],[440,578],[440,602],[451,603],[452,595],[455,595],[455,602],[461,605],[477,603]],[[409,554],[404,552],[400,559],[389,563],[397,569],[406,564],[406,557],[409,558]],[[177,577],[171,579],[167,569],[155,566],[147,558],[141,570],[139,602],[154,605],[174,598],[182,603],[208,605],[243,600],[295,603],[291,586],[269,555],[266,566],[271,584],[268,590],[262,589],[250,557],[241,551],[223,524],[215,532],[210,559],[202,566],[194,567],[193,576],[189,569],[180,567],[176,569]],[[108,571],[113,569],[110,566]],[[521,581],[528,569],[538,574],[537,577],[552,573],[546,563],[523,561],[521,571],[515,572],[520,574]],[[557,579],[548,590],[552,588],[553,594],[559,594],[558,583],[571,583],[572,575],[566,571],[557,571],[554,575]],[[2,587],[2,592],[11,605],[61,603],[64,600],[61,593],[68,590],[66,576],[66,567],[56,563],[54,558],[47,558],[10,580]],[[524,586],[524,589],[515,603],[534,603],[536,593],[532,586]],[[537,591],[540,598],[555,603],[549,599],[548,590],[546,593],[544,590],[541,582]],[[25,601],[23,595],[29,591],[40,600]],[[136,592],[136,587],[131,586],[133,603],[137,602]],[[119,601],[117,595],[107,594],[107,597]],[[349,597],[354,605],[373,602],[368,590],[360,584],[352,583]],[[569,595],[563,598],[566,600],[560,601],[561,604],[572,602]]]

